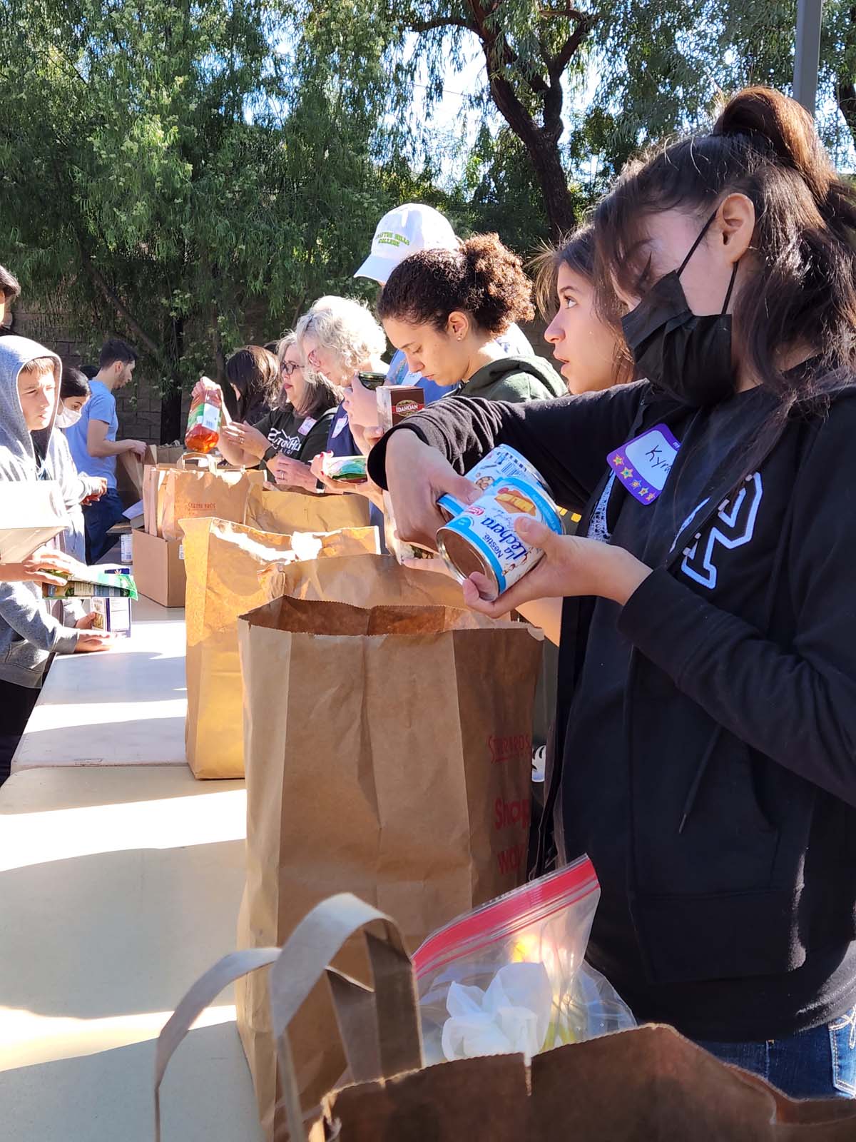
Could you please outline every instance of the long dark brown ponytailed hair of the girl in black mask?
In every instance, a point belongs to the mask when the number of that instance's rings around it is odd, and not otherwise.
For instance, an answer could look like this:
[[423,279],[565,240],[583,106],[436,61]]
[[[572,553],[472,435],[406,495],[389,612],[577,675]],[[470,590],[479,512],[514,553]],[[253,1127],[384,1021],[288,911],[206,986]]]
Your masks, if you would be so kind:
[[[824,375],[856,363],[856,192],[837,176],[814,121],[793,99],[746,88],[710,134],[648,151],[625,168],[595,214],[599,304],[616,315],[613,283],[632,295],[651,284],[637,252],[647,216],[681,209],[696,214],[701,228],[732,193],[754,206],[757,266],[735,298],[734,344],[778,395],[784,416],[797,401],[822,395]],[[781,349],[802,345],[821,367],[789,376]],[[840,378],[826,387],[833,383]]]

